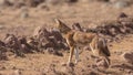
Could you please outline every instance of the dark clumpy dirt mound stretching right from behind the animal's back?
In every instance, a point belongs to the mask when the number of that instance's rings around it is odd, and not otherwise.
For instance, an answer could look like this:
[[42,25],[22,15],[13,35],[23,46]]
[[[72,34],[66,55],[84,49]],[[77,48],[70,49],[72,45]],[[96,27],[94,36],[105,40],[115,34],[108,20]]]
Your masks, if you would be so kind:
[[86,29],[86,32],[99,33],[110,40],[119,40],[122,39],[121,36],[133,33],[133,18],[122,12],[116,20],[106,21],[101,23],[100,26]]

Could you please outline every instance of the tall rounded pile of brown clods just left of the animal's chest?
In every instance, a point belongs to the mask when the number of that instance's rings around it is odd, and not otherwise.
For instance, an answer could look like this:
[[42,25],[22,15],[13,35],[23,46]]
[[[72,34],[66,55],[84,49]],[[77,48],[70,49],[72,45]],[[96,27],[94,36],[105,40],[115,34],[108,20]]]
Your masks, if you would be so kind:
[[61,33],[54,29],[48,30],[44,26],[39,26],[34,30],[33,38],[39,42],[39,47],[65,47]]

